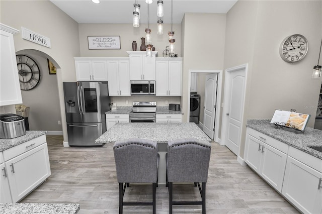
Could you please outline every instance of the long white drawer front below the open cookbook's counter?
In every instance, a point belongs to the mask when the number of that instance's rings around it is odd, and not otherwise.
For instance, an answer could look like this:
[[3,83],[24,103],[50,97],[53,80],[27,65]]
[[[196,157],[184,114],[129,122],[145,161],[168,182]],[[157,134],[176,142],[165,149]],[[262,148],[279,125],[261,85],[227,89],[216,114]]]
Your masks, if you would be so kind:
[[280,142],[251,128],[247,128],[247,134],[287,154],[288,145],[286,143]]

